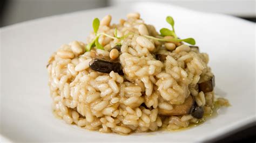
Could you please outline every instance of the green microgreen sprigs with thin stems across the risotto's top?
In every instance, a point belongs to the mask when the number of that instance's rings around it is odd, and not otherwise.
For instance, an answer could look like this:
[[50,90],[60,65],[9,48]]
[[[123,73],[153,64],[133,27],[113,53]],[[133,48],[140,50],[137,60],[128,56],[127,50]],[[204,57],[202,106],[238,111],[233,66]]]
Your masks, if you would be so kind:
[[[168,28],[161,28],[160,29],[161,36],[165,37],[165,36],[171,35],[171,36],[173,36],[172,39],[156,38],[156,37],[152,37],[152,36],[149,36],[149,35],[141,35],[141,36],[144,36],[146,38],[153,39],[153,40],[158,40],[158,41],[166,41],[166,42],[181,42],[181,41],[183,41],[183,42],[186,42],[186,43],[191,44],[191,45],[196,44],[196,41],[193,38],[178,39],[178,37],[175,33],[175,30],[174,30],[174,20],[171,16],[166,17],[166,22],[169,23],[172,26],[172,30],[170,30]],[[118,40],[124,40],[129,35],[138,35],[136,33],[130,32],[126,35],[123,35],[122,37],[118,37],[117,36],[117,28],[115,28],[114,33],[113,33],[114,37],[113,37],[113,36],[111,36],[109,34],[106,34],[106,33],[98,33],[99,25],[100,25],[99,19],[95,18],[92,22],[92,27],[93,27],[93,31],[95,32],[96,37],[95,37],[95,39],[92,40],[92,42],[90,42],[89,44],[86,45],[86,48],[85,48],[86,51],[90,51],[93,46],[96,46],[96,48],[98,48],[98,49],[103,49],[104,50],[104,47],[98,41],[100,35],[105,35],[106,37],[109,37],[109,38],[112,38],[112,39],[118,39]],[[118,44],[120,44],[120,43],[118,43]]]

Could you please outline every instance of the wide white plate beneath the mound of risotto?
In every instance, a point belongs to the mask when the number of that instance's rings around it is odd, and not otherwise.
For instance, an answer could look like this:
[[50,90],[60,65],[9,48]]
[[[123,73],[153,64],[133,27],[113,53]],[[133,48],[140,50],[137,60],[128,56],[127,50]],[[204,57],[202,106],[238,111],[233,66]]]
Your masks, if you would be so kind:
[[[167,27],[176,20],[182,38],[193,37],[210,55],[217,94],[229,108],[198,127],[179,132],[103,134],[65,124],[51,112],[46,62],[73,40],[85,41],[92,20],[111,14],[113,22],[138,11],[146,23]],[[1,29],[1,134],[11,141],[204,141],[255,121],[255,24],[238,18],[158,3],[96,9],[53,16]]]

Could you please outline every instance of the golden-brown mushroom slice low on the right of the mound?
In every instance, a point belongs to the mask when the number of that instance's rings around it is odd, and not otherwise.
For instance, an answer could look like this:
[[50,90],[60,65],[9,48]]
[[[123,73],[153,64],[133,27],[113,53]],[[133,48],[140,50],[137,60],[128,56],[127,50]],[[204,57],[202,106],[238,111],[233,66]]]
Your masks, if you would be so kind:
[[179,115],[188,115],[193,110],[194,98],[192,95],[188,96],[183,104],[172,105],[172,110],[158,109],[160,115],[164,116],[179,116]]

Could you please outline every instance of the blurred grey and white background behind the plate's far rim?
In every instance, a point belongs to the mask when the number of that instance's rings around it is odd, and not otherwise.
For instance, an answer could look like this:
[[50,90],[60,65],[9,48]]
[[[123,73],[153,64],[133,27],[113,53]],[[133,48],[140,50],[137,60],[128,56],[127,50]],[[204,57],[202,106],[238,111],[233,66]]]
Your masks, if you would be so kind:
[[[0,27],[26,20],[146,0],[0,0]],[[256,22],[255,0],[150,0]]]

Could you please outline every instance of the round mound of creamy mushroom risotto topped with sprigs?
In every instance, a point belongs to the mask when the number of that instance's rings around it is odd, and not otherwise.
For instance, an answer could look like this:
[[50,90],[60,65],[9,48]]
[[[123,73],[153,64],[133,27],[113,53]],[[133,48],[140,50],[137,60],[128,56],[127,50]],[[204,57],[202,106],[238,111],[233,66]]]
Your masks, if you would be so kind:
[[53,111],[68,124],[129,134],[177,130],[210,115],[214,75],[193,38],[145,24],[139,13],[95,18],[86,44],[61,46],[48,61]]

